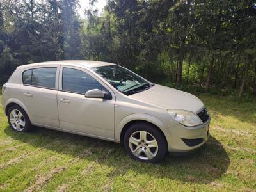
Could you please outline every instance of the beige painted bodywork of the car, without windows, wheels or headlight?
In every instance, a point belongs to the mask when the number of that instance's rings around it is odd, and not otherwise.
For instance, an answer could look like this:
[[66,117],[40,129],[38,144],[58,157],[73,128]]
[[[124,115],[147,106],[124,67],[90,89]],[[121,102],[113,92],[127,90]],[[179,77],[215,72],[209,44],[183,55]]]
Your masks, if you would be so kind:
[[[166,137],[169,151],[188,151],[203,144],[189,147],[180,138],[204,138],[207,141],[210,120],[196,127],[185,127],[166,111],[184,109],[198,113],[204,109],[200,99],[158,84],[134,95],[124,95],[90,69],[103,65],[115,64],[100,61],[51,61],[22,65],[17,67],[6,83],[2,105],[5,109],[10,103],[19,104],[33,125],[109,141],[120,142],[125,125],[134,120],[145,120],[159,127]],[[22,72],[40,67],[58,68],[55,89],[23,85]],[[82,94],[63,92],[63,67],[76,68],[90,74],[108,89],[112,100],[86,98]],[[24,93],[32,93],[33,96],[28,97]],[[61,102],[63,99],[70,102]]]

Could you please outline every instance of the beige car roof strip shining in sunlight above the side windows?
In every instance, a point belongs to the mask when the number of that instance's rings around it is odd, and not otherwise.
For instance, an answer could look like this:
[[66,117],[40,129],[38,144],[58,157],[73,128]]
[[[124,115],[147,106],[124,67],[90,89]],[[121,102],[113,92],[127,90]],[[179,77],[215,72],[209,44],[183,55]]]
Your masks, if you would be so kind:
[[101,67],[108,65],[116,65],[113,63],[102,62],[102,61],[86,61],[86,60],[65,60],[65,61],[46,61],[41,63],[33,63],[28,65],[20,65],[19,68],[27,68],[27,67],[39,67],[44,65],[70,65],[75,67]]

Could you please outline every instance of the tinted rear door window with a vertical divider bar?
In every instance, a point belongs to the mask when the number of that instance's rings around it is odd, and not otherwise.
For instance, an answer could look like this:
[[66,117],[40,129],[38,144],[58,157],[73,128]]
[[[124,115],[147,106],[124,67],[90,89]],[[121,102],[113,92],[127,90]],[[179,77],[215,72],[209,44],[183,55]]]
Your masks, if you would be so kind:
[[56,67],[26,70],[22,74],[23,83],[44,88],[55,88],[56,71]]

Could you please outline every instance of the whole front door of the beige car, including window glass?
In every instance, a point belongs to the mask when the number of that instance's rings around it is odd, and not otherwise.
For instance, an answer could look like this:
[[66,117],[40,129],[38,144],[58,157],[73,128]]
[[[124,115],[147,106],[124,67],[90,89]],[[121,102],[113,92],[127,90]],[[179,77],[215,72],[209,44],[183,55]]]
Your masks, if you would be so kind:
[[[109,92],[112,99],[86,98],[88,90]],[[115,95],[90,71],[61,66],[58,92],[60,128],[102,138],[114,138]]]

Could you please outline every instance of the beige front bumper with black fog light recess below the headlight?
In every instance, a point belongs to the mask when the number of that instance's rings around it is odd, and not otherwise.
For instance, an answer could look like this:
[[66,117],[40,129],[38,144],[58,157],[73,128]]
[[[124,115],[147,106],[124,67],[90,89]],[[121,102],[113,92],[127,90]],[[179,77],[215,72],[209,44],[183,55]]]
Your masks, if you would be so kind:
[[169,152],[189,152],[204,145],[210,136],[210,122],[211,118],[196,127],[185,127],[181,124],[169,127],[166,135]]

